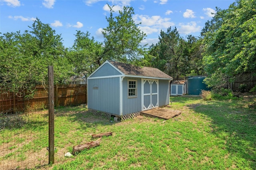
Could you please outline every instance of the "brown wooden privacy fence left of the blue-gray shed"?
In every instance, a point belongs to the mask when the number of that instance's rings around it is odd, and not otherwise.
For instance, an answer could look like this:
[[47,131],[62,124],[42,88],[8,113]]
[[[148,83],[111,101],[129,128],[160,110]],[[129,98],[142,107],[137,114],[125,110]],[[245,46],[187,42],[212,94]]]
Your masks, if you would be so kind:
[[[87,103],[86,85],[54,85],[54,105],[67,106]],[[23,112],[48,107],[48,89],[37,86],[33,99],[14,95],[8,89],[0,88],[0,113]]]

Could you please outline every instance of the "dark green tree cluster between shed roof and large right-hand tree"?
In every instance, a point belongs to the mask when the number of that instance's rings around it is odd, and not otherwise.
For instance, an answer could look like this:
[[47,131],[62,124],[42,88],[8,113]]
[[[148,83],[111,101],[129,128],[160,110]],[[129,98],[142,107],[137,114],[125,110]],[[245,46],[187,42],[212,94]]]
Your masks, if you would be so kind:
[[202,40],[189,35],[180,37],[177,28],[161,31],[159,42],[152,44],[142,65],[156,67],[178,80],[187,75],[202,75]]

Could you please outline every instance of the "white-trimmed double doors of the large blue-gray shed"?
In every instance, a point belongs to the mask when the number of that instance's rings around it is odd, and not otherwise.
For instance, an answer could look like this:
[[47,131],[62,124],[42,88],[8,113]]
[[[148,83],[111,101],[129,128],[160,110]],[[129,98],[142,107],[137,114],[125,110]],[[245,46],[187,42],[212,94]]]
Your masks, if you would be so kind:
[[142,79],[142,111],[158,107],[158,80]]

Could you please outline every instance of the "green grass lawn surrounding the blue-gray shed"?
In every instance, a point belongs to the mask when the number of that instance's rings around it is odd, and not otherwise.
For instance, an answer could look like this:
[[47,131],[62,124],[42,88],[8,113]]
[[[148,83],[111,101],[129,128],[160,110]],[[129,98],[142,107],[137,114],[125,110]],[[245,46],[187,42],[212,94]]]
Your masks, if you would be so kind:
[[[228,101],[170,97],[170,101],[171,109],[182,113],[167,121],[140,117],[116,123],[88,113],[85,105],[56,108],[55,163],[47,168],[256,169],[256,97]],[[41,121],[40,128],[46,127],[47,122]],[[28,129],[31,136],[34,128],[38,127]],[[73,146],[96,140],[91,135],[102,132],[113,135],[103,137],[100,146],[64,157]],[[34,146],[44,149],[48,140],[40,141]]]

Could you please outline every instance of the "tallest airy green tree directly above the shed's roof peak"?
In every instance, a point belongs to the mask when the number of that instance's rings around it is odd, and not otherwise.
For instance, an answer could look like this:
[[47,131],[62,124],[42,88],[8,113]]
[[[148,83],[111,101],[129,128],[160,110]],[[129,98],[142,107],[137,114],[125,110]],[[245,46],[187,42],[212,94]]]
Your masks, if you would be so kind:
[[140,31],[139,24],[132,19],[132,7],[123,7],[118,16],[113,16],[113,6],[110,8],[110,17],[106,17],[108,26],[103,29],[104,52],[111,60],[129,62],[144,55],[144,47],[140,45],[146,34]]

